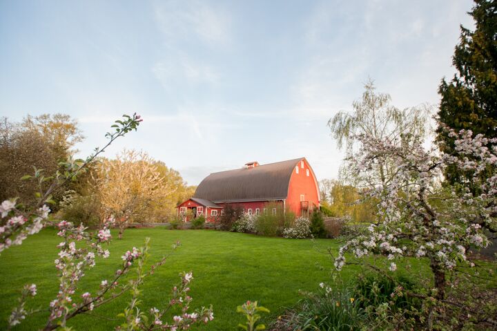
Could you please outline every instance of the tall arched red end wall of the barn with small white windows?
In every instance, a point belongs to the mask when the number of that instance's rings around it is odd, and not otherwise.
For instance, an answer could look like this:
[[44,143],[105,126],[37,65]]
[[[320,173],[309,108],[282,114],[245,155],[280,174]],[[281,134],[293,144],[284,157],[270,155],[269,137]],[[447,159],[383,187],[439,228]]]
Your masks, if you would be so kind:
[[[320,205],[320,196],[318,189],[318,181],[315,178],[314,171],[307,160],[302,159],[304,162],[304,167],[298,162],[297,167],[299,172],[293,169],[289,193],[286,198],[286,207],[289,207],[297,216],[302,216],[302,210],[300,208],[300,195],[304,195],[304,201],[309,202],[309,210],[312,208],[318,208]],[[309,176],[307,176],[307,170],[309,170]]]

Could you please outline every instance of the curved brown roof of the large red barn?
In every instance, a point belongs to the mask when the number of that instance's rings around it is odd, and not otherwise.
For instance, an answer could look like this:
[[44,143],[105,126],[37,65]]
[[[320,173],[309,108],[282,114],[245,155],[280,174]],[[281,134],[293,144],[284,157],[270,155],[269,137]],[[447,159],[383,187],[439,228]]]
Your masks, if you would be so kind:
[[211,173],[193,198],[215,203],[286,199],[293,169],[300,160],[304,158]]

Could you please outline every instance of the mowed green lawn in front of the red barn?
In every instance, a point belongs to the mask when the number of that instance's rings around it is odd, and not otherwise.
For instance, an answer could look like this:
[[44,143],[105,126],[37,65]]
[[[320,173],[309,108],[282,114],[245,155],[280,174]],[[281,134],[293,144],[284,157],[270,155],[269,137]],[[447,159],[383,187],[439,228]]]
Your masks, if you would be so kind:
[[[329,280],[333,265],[326,249],[338,251],[335,240],[297,240],[267,238],[212,230],[128,229],[124,239],[108,246],[110,258],[97,259],[81,281],[81,291],[95,293],[103,279],[110,279],[121,265],[121,255],[133,246],[142,247],[150,237],[150,263],[169,254],[177,240],[182,244],[168,262],[142,286],[142,310],[162,308],[168,303],[171,287],[180,272],[193,272],[191,283],[193,308],[213,305],[215,320],[197,330],[235,330],[243,316],[235,312],[246,300],[259,301],[281,314],[302,298],[299,290],[315,290],[318,283]],[[29,308],[47,308],[57,293],[56,245],[61,241],[53,229],[28,238],[0,256],[0,329],[6,328],[11,308],[24,284],[36,283],[38,294],[28,302]],[[342,276],[353,276],[347,269]],[[77,316],[69,323],[75,330],[113,330],[121,323],[129,296],[122,296],[94,310],[95,316]],[[79,299],[78,299],[79,301]],[[29,316],[14,330],[38,330],[46,323],[48,312]]]

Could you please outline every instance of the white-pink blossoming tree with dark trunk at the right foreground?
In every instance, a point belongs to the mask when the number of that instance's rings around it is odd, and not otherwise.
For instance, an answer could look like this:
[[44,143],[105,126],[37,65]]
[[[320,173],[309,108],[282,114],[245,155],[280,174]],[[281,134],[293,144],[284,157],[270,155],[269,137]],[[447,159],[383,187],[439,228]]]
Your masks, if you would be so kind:
[[[399,259],[425,257],[434,286],[427,294],[413,295],[449,303],[447,285],[453,285],[449,277],[467,273],[467,267],[476,265],[467,249],[486,247],[486,231],[497,231],[497,138],[473,137],[471,131],[449,134],[455,139],[456,156],[439,155],[435,149],[425,151],[419,136],[408,140],[368,134],[355,137],[363,146],[353,159],[356,176],[384,163],[395,164],[396,171],[382,185],[370,185],[367,194],[379,202],[382,222],[340,248],[335,258],[337,269],[355,263],[354,258],[382,254],[387,256],[389,270],[395,272]],[[467,182],[441,187],[441,173],[449,165],[472,173],[471,185],[477,185],[480,193],[474,196]],[[482,171],[491,171],[491,176],[482,179]],[[352,261],[346,253],[352,254]]]

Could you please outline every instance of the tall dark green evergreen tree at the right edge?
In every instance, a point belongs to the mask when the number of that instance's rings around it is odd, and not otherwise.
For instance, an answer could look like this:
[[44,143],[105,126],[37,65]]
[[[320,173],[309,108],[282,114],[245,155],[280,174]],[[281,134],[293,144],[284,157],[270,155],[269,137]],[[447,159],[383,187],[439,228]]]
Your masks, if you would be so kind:
[[[474,135],[497,136],[497,1],[475,0],[469,12],[476,23],[471,31],[460,27],[460,42],[452,63],[457,73],[451,82],[442,79],[438,116],[451,129],[469,129]],[[454,153],[454,139],[442,126],[437,129],[442,151]],[[465,174],[449,167],[450,184],[465,180]],[[469,180],[469,178],[467,178]]]

